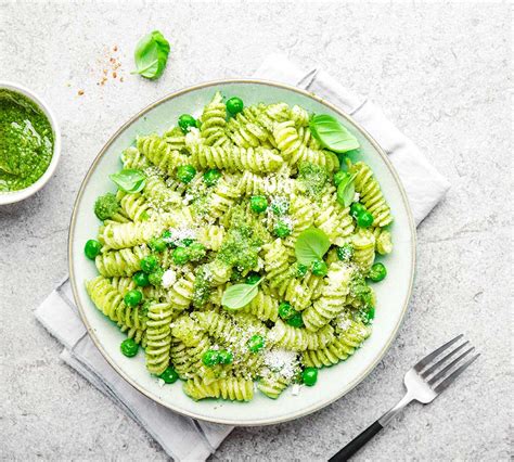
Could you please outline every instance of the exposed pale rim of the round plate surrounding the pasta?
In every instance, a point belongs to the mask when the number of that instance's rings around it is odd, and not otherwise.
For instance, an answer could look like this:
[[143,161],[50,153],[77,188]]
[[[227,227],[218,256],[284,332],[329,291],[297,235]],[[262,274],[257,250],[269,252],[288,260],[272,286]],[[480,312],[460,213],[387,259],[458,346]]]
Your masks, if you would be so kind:
[[[395,222],[391,228],[394,253],[385,258],[387,278],[375,284],[377,306],[371,337],[347,361],[319,371],[313,387],[303,387],[293,396],[291,387],[279,399],[272,400],[255,393],[247,403],[222,400],[195,402],[181,389],[179,381],[160,387],[157,380],[146,372],[144,355],[126,358],[119,350],[125,338],[91,303],[85,281],[97,275],[94,264],[83,255],[83,245],[98,233],[99,220],[93,214],[98,195],[115,191],[108,175],[119,170],[119,154],[130,145],[137,134],[162,132],[176,124],[183,113],[198,113],[209,102],[214,92],[237,95],[246,105],[284,101],[299,104],[316,112],[332,114],[359,139],[363,159],[380,180]],[[284,422],[309,414],[340,398],[361,382],[378,363],[390,346],[400,326],[411,295],[415,261],[415,228],[403,188],[391,164],[380,146],[342,111],[322,99],[301,90],[261,80],[223,80],[181,90],[147,106],[125,124],[102,149],[86,176],[72,217],[69,229],[69,272],[75,299],[89,333],[106,360],[132,386],[155,401],[177,411],[211,422],[232,425],[266,425]]]

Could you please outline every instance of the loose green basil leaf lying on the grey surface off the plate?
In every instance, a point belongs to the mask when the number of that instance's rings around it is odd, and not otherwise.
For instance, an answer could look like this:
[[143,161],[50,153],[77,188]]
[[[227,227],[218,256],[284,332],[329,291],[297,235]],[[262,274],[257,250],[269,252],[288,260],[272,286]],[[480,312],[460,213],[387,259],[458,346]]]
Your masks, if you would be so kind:
[[132,74],[140,74],[149,79],[159,78],[166,67],[169,54],[169,42],[158,30],[144,36],[136,46],[133,59],[137,69]]

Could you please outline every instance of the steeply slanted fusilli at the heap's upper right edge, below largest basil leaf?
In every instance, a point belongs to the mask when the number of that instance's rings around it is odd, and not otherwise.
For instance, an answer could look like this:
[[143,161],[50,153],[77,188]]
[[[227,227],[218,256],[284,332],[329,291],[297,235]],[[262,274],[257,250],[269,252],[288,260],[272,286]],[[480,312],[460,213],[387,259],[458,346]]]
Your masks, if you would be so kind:
[[356,191],[360,194],[360,202],[373,215],[373,226],[385,227],[393,221],[393,215],[370,166],[363,162],[351,164],[349,159],[347,163],[348,171],[357,174],[355,179]]

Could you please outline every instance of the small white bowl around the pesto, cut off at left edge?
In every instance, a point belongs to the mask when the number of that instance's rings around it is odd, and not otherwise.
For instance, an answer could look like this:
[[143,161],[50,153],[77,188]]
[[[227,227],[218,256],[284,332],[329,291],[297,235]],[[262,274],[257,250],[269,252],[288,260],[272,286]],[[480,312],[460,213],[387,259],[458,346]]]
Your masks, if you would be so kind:
[[3,80],[0,80],[0,89],[7,89],[22,93],[29,100],[34,101],[48,117],[53,130],[53,155],[47,170],[39,178],[39,180],[23,190],[0,192],[0,205],[5,205],[13,204],[14,202],[23,201],[24,198],[31,196],[33,194],[38,192],[44,184],[47,184],[48,180],[50,180],[50,178],[55,171],[55,168],[57,167],[59,159],[61,157],[61,130],[59,129],[57,119],[55,118],[55,115],[53,114],[50,106],[34,91],[28,90],[27,88],[18,84]]

